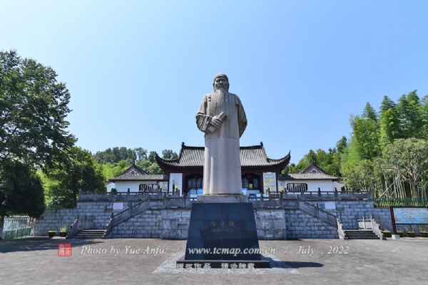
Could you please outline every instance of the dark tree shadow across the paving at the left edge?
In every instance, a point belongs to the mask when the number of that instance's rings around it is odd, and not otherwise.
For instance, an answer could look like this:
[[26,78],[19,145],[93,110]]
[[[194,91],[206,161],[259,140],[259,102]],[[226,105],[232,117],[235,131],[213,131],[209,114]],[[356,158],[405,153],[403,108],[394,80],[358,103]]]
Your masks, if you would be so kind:
[[58,249],[61,242],[69,242],[73,247],[81,245],[99,244],[98,239],[50,239],[49,237],[28,237],[24,239],[1,239],[0,253],[8,252],[34,252],[37,250]]

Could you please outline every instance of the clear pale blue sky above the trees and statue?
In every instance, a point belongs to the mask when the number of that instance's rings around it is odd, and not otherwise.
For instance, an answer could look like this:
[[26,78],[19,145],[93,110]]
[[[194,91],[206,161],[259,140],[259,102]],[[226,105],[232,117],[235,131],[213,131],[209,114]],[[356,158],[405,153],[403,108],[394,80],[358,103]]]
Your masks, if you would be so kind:
[[267,155],[349,136],[350,114],[428,94],[428,1],[1,1],[0,50],[58,73],[91,152],[203,146],[195,113],[226,73]]

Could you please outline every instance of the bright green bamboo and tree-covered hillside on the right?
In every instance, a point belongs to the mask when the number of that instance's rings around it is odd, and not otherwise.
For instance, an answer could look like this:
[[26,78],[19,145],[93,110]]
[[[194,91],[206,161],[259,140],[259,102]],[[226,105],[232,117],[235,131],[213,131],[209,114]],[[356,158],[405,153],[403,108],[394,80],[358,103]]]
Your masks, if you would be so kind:
[[367,103],[350,125],[350,138],[327,152],[310,150],[284,172],[315,162],[347,187],[372,189],[377,197],[427,197],[428,95],[421,99],[414,90],[397,102],[385,95],[379,111]]

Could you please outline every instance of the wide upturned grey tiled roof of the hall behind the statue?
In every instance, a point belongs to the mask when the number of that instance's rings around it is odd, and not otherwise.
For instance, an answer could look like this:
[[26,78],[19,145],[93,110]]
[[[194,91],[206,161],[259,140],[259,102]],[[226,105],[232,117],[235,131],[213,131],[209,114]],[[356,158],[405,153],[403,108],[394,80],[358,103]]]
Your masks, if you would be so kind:
[[[205,147],[191,147],[181,145],[180,155],[176,160],[164,160],[156,155],[158,164],[175,166],[175,167],[203,167],[203,152]],[[272,160],[267,157],[263,143],[248,147],[240,147],[241,166],[275,166],[290,162],[290,152],[279,160]],[[284,166],[284,167],[285,167]]]

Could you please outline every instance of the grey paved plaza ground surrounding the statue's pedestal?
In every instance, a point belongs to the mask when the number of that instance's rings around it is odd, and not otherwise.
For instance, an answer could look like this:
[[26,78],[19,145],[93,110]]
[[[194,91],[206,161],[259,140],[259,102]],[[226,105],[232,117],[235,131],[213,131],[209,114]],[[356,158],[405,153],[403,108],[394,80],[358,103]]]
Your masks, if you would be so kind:
[[[58,257],[62,242],[72,244],[71,257]],[[275,268],[175,269],[183,240],[0,240],[0,284],[428,284],[428,238],[260,241],[260,247]]]

